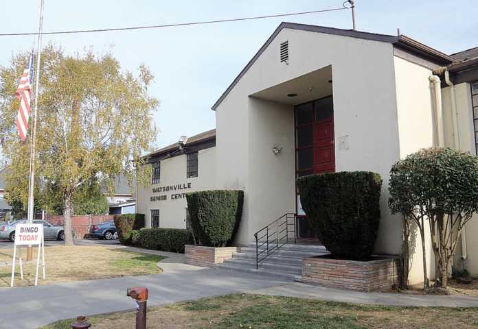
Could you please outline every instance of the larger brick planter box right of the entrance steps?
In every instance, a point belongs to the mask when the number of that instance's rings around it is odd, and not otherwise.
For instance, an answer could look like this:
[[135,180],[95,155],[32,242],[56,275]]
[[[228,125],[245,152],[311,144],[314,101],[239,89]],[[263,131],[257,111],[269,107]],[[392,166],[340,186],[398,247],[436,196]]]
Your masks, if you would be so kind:
[[323,287],[385,291],[398,284],[397,256],[356,261],[317,256],[302,260],[302,280]]

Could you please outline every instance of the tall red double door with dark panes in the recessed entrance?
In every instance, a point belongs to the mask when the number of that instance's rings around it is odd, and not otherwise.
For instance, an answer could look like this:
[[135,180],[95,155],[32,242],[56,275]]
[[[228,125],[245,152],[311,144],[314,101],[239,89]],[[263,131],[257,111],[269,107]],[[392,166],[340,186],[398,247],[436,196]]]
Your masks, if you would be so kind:
[[[296,177],[335,171],[332,96],[295,106]],[[317,240],[297,194],[297,238]]]

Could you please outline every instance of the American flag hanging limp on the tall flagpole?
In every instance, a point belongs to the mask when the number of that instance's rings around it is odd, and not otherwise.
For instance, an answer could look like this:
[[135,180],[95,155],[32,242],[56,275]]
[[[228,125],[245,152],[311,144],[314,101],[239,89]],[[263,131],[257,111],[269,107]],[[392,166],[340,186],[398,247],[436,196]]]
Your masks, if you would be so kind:
[[20,77],[19,87],[16,88],[16,98],[20,100],[19,112],[16,114],[15,125],[21,141],[25,141],[28,130],[28,118],[30,117],[30,99],[32,98],[33,82],[33,53],[28,58],[28,64]]

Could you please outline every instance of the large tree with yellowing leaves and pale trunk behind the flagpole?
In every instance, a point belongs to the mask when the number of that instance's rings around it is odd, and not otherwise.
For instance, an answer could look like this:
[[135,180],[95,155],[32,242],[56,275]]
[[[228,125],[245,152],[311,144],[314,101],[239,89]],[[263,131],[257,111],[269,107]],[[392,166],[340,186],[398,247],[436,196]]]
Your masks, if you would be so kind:
[[[0,67],[0,144],[10,169],[6,189],[23,204],[30,151],[13,127],[19,107],[14,91],[26,58],[20,54],[10,66]],[[67,245],[73,243],[73,202],[82,185],[98,180],[111,193],[117,175],[125,175],[131,183],[136,172],[139,182],[148,184],[150,166],[142,165],[141,155],[156,136],[152,112],[158,101],[148,95],[151,81],[145,66],[139,66],[135,76],[122,71],[110,54],[66,56],[52,45],[43,50],[36,176],[41,187],[55,186],[62,199]]]

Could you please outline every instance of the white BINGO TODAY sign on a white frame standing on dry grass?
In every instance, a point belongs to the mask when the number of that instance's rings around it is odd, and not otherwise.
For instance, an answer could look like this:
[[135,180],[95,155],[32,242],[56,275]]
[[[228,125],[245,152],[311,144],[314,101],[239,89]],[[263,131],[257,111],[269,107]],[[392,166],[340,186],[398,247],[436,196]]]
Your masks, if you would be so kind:
[[[36,256],[36,273],[35,273],[35,285],[38,284],[38,266],[40,265],[40,253],[41,253],[41,266],[43,269],[43,280],[45,280],[45,239],[43,236],[42,224],[16,224],[15,226],[15,243],[13,246],[13,259],[12,259],[12,280],[10,280],[10,287],[13,287],[13,279],[15,274],[15,261],[16,261],[16,246],[19,245],[38,245],[38,254]],[[19,248],[19,265],[20,265],[20,278],[23,280],[23,263],[21,260],[21,247]]]

